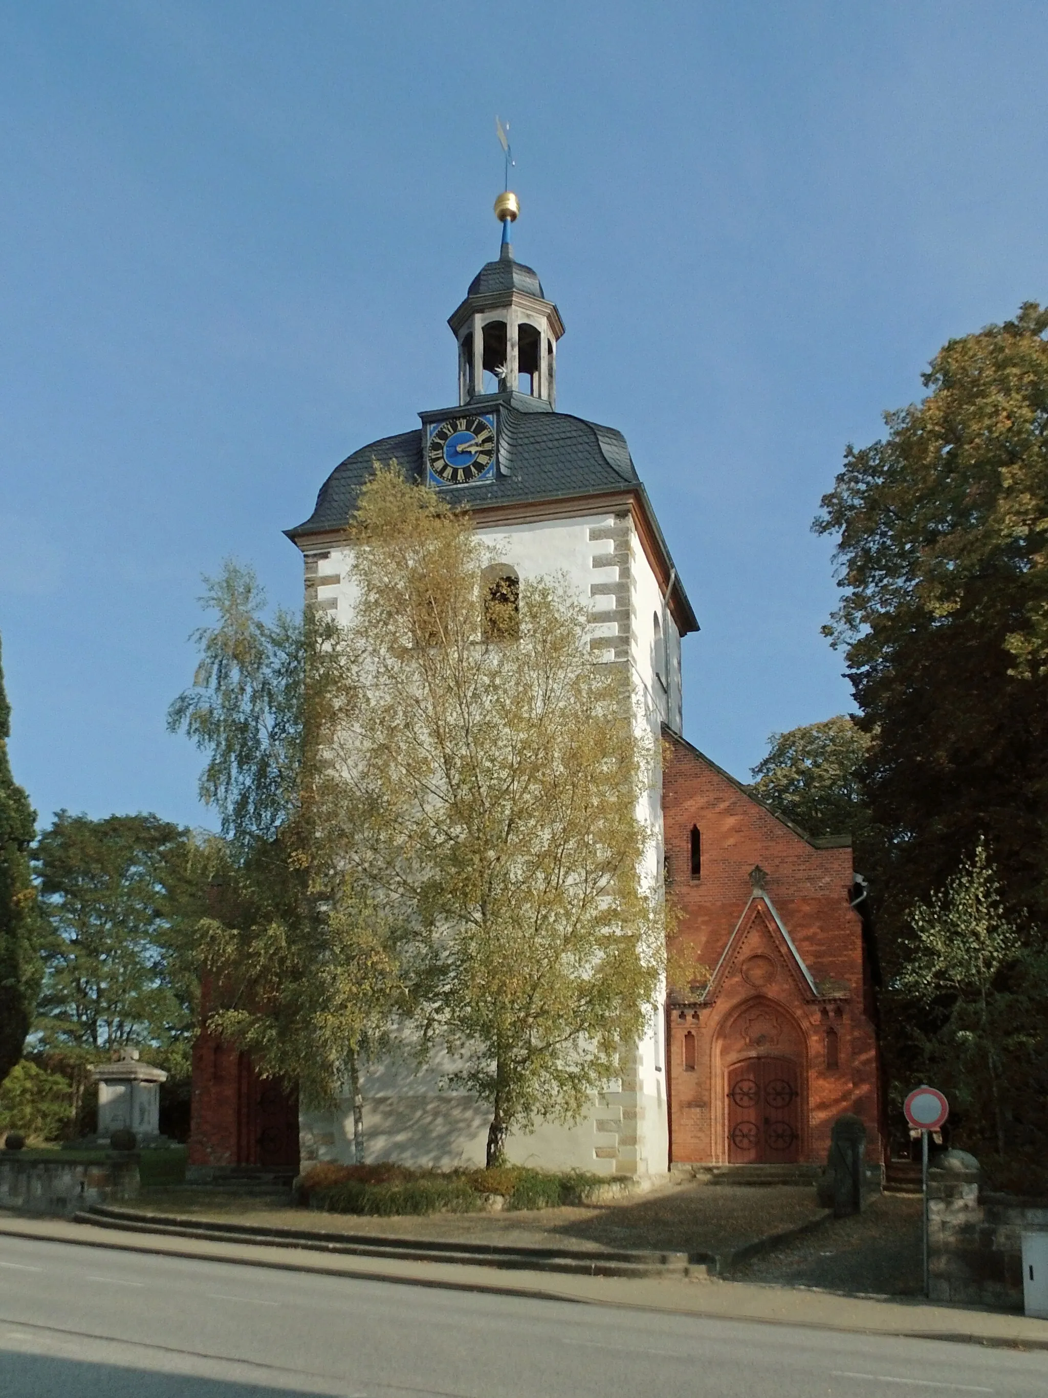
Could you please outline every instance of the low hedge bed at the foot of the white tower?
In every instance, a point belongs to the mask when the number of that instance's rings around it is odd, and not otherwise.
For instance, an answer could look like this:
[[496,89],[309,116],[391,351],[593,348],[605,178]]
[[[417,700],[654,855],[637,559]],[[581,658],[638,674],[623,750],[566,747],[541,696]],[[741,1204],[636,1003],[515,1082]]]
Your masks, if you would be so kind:
[[299,1181],[299,1197],[310,1208],[331,1213],[474,1213],[492,1197],[506,1209],[555,1209],[585,1204],[608,1181],[580,1170],[562,1173],[499,1166],[492,1170],[412,1170],[379,1165],[316,1165]]

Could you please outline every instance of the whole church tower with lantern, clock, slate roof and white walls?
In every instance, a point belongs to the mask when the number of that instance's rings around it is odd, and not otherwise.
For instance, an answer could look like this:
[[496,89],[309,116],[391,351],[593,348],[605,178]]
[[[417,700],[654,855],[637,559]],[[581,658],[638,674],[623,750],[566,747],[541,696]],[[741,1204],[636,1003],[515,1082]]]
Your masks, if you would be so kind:
[[[590,607],[594,658],[629,675],[640,721],[657,738],[682,724],[681,637],[697,622],[674,566],[626,439],[615,428],[562,412],[556,405],[556,352],[565,324],[538,274],[517,261],[510,239],[518,214],[514,194],[500,194],[499,256],[470,282],[449,317],[456,340],[456,403],[425,408],[421,426],[380,438],[335,467],[316,509],[288,537],[302,549],[306,596],[347,615],[345,526],[374,461],[395,460],[411,480],[464,503],[478,534],[495,549],[502,575],[566,573]],[[657,744],[658,748],[658,744]],[[662,811],[658,772],[641,812],[651,835],[648,879],[661,877]],[[605,1100],[572,1128],[546,1124],[534,1137],[510,1138],[511,1159],[608,1174],[661,1173],[668,1163],[665,1023],[651,1007],[651,1029]],[[483,1160],[485,1118],[463,1132],[447,1159],[432,1145],[405,1145],[404,1121],[419,1116],[419,1097],[436,1096],[440,1074],[409,1081],[379,1071],[366,1086],[369,1151],[405,1163]],[[461,1103],[458,1104],[463,1106]],[[440,1111],[435,1100],[433,1109]],[[305,1152],[348,1159],[352,1124],[307,1118]]]

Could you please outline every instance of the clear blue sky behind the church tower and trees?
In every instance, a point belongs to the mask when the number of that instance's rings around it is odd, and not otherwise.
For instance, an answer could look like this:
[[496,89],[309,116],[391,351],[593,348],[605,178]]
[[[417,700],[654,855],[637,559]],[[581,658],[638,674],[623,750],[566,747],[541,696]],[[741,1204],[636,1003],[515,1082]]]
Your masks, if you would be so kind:
[[0,635],[42,821],[207,821],[163,721],[200,575],[298,603],[281,530],[453,400],[496,112],[559,407],[626,433],[703,626],[686,735],[745,776],[847,709],[809,523],[943,340],[1048,295],[1045,53],[1007,0],[0,6]]

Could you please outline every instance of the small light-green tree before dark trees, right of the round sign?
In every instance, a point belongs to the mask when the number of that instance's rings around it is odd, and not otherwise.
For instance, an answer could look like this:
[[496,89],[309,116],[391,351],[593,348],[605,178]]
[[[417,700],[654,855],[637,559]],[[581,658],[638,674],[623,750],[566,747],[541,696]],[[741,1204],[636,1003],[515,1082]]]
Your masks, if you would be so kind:
[[893,990],[910,1008],[924,1065],[966,1117],[967,1138],[992,1142],[1003,1159],[1017,1086],[1009,1068],[1044,1051],[1048,983],[1005,910],[984,840],[945,889],[911,909],[910,924]]

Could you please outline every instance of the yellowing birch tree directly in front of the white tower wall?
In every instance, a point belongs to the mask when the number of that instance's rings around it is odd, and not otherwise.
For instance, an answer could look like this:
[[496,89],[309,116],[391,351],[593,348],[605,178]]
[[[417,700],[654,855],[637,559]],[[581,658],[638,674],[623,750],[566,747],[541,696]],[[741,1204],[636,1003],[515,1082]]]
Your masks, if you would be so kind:
[[347,856],[422,948],[428,1033],[489,1106],[495,1165],[511,1130],[576,1120],[644,1025],[665,948],[639,872],[653,754],[565,582],[485,580],[468,516],[393,468],[352,541]]

